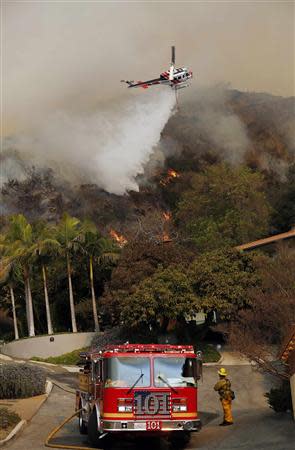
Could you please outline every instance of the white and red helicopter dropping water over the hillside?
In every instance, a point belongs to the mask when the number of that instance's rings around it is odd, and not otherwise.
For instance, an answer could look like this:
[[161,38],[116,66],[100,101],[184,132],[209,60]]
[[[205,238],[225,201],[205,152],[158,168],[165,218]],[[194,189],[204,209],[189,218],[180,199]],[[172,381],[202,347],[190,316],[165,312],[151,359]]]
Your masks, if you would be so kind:
[[121,80],[121,83],[126,83],[128,88],[143,88],[148,89],[150,86],[157,84],[164,84],[170,86],[175,91],[189,86],[189,80],[193,77],[193,72],[186,67],[175,68],[175,46],[171,47],[171,64],[169,70],[162,72],[159,78],[147,81],[128,81]]

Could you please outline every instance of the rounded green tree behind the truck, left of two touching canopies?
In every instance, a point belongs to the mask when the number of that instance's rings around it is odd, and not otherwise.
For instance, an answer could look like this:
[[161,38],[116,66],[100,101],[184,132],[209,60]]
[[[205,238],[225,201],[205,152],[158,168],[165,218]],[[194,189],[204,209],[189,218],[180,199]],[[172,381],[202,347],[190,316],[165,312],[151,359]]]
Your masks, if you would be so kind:
[[170,319],[180,319],[200,310],[200,300],[184,268],[160,267],[130,297],[126,296],[121,318],[127,326],[150,324],[166,331]]

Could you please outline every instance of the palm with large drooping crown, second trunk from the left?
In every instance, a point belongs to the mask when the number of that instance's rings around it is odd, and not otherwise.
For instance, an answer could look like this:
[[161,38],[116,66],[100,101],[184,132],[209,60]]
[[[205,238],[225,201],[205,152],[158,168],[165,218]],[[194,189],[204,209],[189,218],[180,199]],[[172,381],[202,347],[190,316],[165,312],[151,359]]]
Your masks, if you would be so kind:
[[30,266],[36,244],[33,242],[32,227],[22,214],[10,218],[10,225],[2,241],[2,248],[7,253],[10,263],[18,262],[21,265],[25,284],[28,331],[30,337],[35,336]]

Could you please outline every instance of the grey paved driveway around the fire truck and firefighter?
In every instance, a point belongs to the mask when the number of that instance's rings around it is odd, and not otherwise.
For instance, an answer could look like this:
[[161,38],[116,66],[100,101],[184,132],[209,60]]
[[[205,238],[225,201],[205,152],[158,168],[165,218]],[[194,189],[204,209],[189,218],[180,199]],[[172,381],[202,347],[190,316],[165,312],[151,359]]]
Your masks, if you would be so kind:
[[[291,450],[295,442],[295,423],[289,415],[273,413],[265,402],[264,392],[269,381],[251,366],[228,368],[236,392],[234,402],[235,424],[219,427],[221,409],[212,385],[216,381],[216,367],[204,368],[204,382],[200,383],[199,406],[204,423],[200,433],[194,434],[187,450]],[[50,373],[50,376],[73,387],[75,376],[66,373]],[[41,407],[22,435],[11,442],[10,450],[44,450],[44,440],[55,426],[73,412],[74,396],[55,387],[47,402]],[[77,431],[77,421],[67,425],[54,442],[67,445],[88,446],[87,440]],[[155,445],[148,440],[120,442],[114,450],[130,449],[168,450],[165,441]]]

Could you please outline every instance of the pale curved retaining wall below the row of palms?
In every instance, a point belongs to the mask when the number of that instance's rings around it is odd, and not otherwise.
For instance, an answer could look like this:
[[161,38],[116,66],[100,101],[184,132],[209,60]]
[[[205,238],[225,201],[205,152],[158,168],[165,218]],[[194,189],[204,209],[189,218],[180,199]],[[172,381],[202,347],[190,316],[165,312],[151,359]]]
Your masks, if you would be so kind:
[[30,359],[33,356],[48,358],[91,345],[96,333],[65,333],[36,336],[3,344],[0,353],[14,358]]

